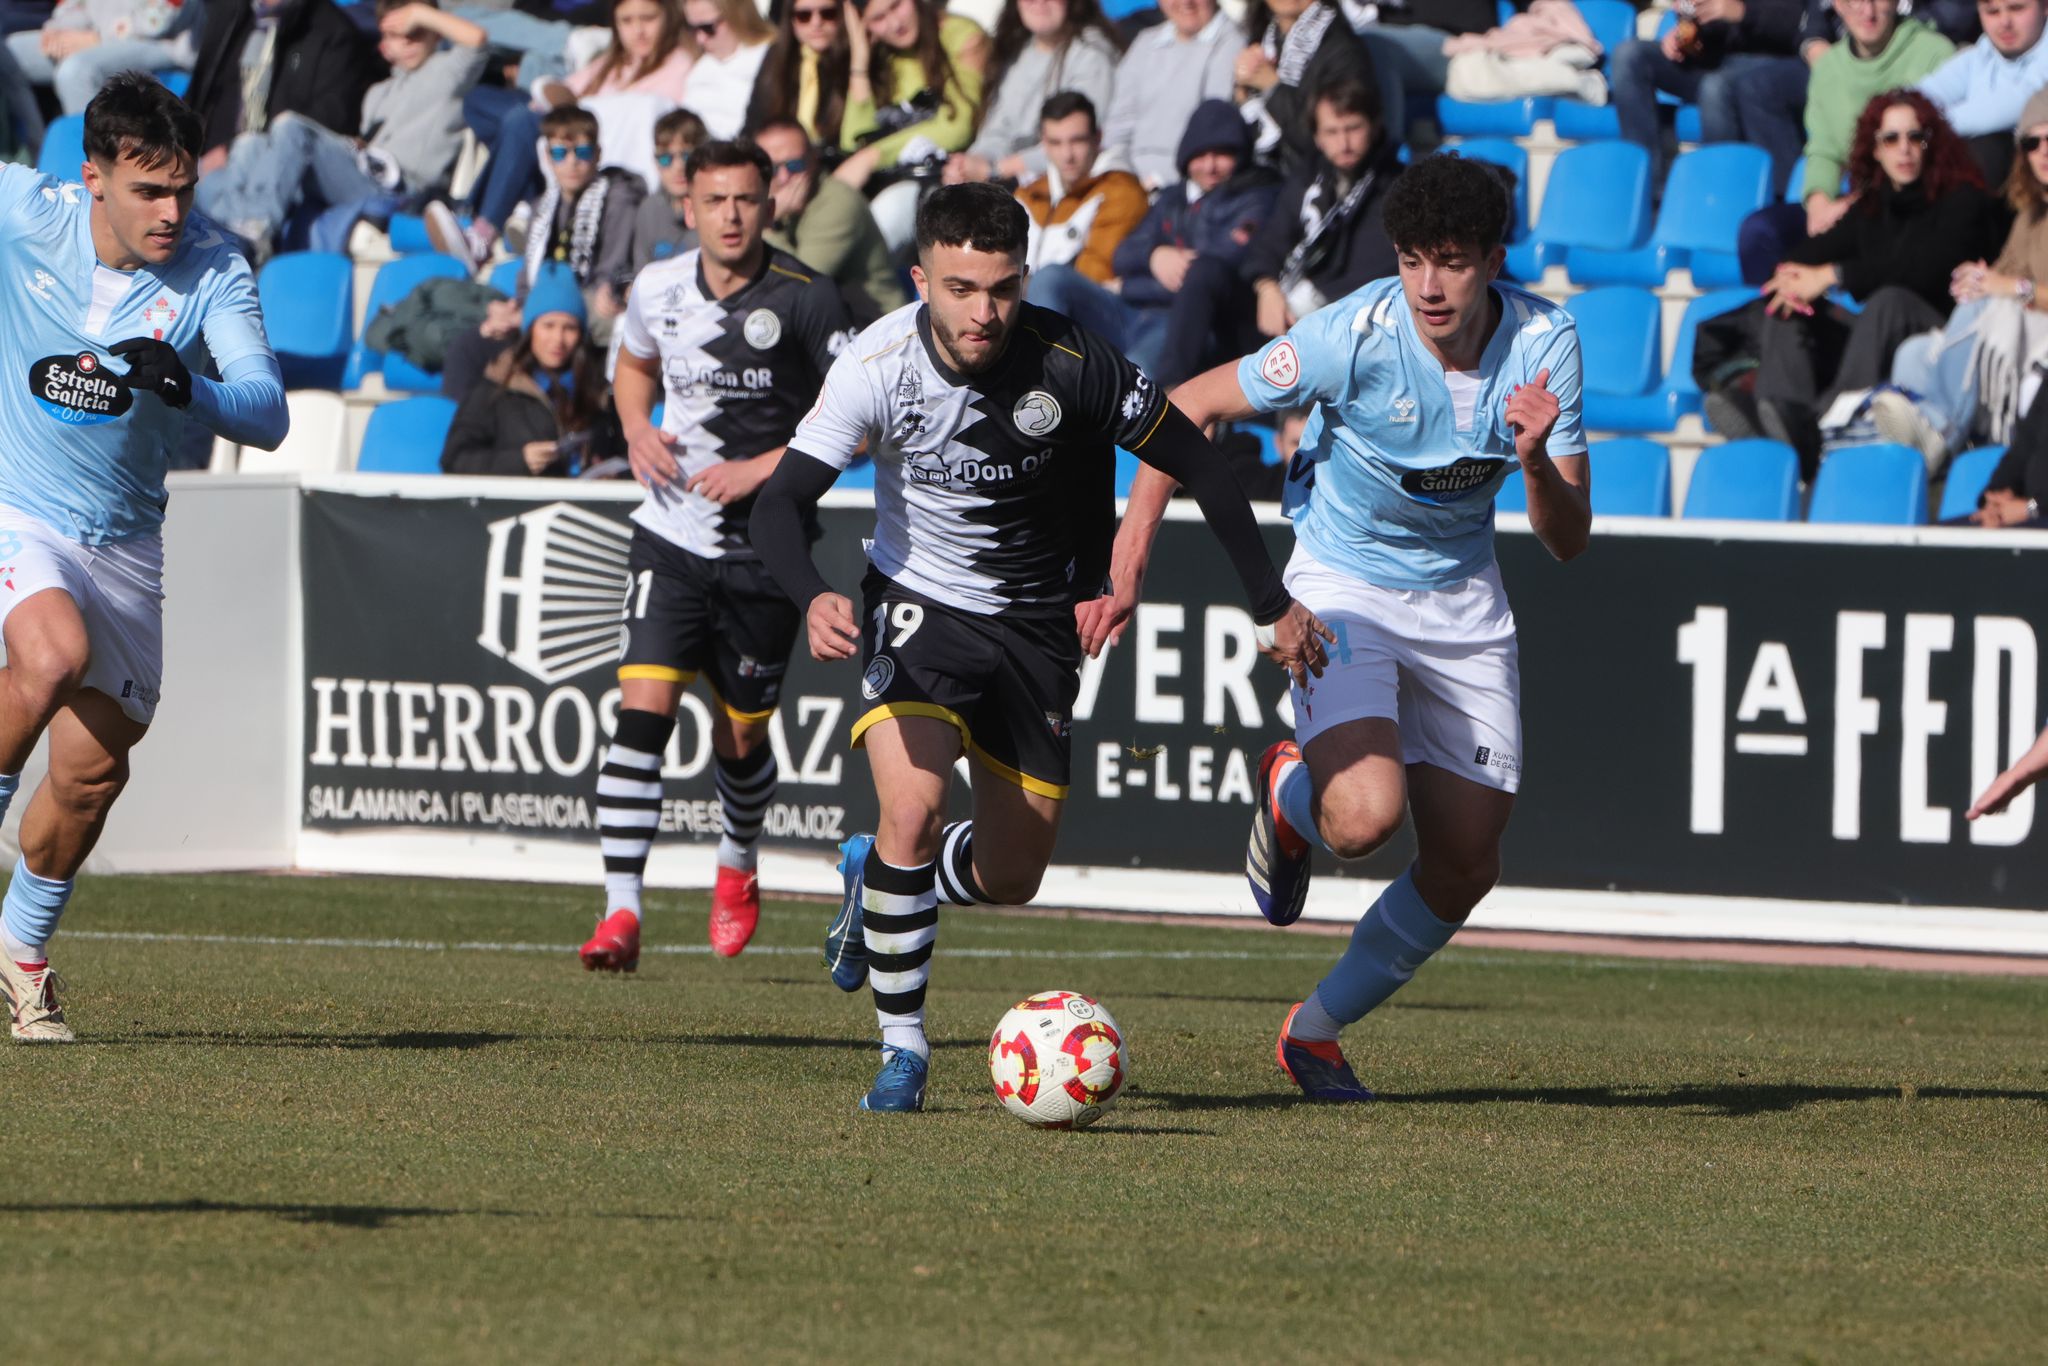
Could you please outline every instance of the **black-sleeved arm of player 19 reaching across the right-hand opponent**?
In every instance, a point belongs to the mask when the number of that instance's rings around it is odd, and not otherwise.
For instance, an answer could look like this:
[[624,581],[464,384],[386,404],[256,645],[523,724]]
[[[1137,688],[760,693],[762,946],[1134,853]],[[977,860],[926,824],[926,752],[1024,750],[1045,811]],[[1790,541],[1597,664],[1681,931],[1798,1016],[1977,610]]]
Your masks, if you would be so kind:
[[1335,641],[1335,633],[1288,594],[1272,555],[1266,553],[1266,537],[1260,535],[1251,502],[1231,475],[1231,467],[1223,463],[1223,455],[1196,430],[1188,414],[1167,405],[1151,438],[1133,455],[1194,494],[1202,520],[1223,543],[1223,553],[1231,557],[1245,596],[1251,598],[1251,621],[1262,627],[1260,649],[1280,661],[1294,682],[1321,674],[1327,664],[1323,645]]

